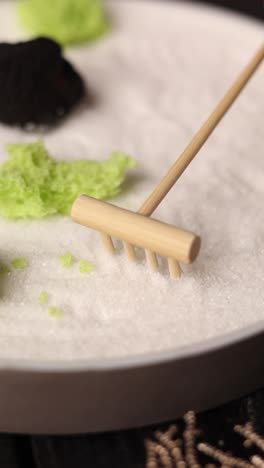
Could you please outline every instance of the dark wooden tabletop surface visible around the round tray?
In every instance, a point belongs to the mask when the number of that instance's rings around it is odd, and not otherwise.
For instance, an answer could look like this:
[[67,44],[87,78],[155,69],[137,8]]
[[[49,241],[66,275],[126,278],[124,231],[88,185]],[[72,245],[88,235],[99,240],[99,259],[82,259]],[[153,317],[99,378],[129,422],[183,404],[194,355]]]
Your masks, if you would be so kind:
[[[264,19],[264,0],[207,0],[205,3]],[[248,420],[264,433],[264,391],[200,416],[205,439],[214,443],[220,437],[238,455],[243,448],[234,437],[232,425]],[[79,437],[2,434],[0,468],[144,468],[146,431]]]

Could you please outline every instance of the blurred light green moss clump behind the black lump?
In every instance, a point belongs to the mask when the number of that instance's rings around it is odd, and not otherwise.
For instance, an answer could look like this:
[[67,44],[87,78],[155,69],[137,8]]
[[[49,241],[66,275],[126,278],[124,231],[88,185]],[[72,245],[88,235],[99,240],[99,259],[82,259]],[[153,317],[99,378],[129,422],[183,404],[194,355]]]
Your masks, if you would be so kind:
[[102,0],[22,0],[18,14],[34,36],[62,45],[92,41],[110,28]]

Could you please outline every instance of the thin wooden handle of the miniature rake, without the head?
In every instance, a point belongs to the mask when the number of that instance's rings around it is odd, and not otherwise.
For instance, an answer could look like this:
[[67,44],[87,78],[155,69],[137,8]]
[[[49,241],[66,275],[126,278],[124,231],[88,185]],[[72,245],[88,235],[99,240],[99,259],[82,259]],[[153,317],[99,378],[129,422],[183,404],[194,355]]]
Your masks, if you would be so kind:
[[253,73],[256,71],[262,60],[264,59],[264,44],[254,55],[252,60],[242,71],[233,86],[229,89],[223,99],[219,102],[213,113],[202,125],[200,130],[193,137],[190,144],[177,159],[177,161],[170,168],[169,172],[163,177],[157,187],[153,190],[151,195],[147,198],[145,203],[139,210],[139,213],[144,216],[151,216],[155,209],[159,206],[162,200],[166,197],[167,193],[171,190],[185,169],[189,166],[195,158],[204,143],[208,140],[209,136],[224,117],[233,102],[239,96]]

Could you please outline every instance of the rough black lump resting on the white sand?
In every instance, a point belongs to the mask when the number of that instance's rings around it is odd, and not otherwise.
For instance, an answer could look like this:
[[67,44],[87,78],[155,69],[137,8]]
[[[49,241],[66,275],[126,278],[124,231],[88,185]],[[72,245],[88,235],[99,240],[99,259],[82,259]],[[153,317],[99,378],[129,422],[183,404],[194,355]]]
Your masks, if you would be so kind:
[[0,44],[0,121],[46,126],[65,117],[85,94],[81,77],[46,38]]

